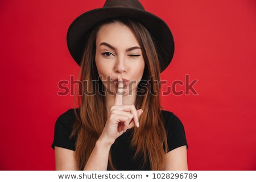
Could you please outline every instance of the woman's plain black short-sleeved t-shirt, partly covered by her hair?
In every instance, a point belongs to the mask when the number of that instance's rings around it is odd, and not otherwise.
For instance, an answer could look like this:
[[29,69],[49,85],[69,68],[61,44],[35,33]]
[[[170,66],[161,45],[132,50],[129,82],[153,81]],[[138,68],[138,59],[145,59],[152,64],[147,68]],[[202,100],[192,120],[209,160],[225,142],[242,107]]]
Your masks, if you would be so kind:
[[[169,111],[162,110],[164,118],[164,126],[167,133],[168,151],[174,150],[180,146],[187,146],[185,131],[180,119]],[[73,122],[76,119],[75,111],[70,109],[61,114],[55,123],[55,134],[52,148],[55,146],[76,150],[76,138],[70,138]],[[111,147],[112,160],[118,170],[150,170],[150,164],[147,163],[143,167],[142,159],[133,160],[134,150],[130,147],[132,130],[127,130],[118,137]]]

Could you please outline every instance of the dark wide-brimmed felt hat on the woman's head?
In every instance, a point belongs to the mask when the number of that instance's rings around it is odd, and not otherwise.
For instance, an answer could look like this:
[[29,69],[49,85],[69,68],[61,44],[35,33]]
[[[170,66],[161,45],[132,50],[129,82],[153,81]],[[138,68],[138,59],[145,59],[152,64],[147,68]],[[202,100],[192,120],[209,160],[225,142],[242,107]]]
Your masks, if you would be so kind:
[[174,38],[171,30],[164,20],[144,10],[138,0],[106,0],[102,8],[87,11],[73,20],[68,28],[67,44],[76,63],[81,63],[86,35],[90,30],[97,23],[118,17],[135,20],[147,28],[156,43],[160,71],[166,69],[174,56]]

